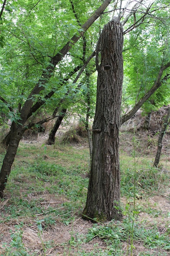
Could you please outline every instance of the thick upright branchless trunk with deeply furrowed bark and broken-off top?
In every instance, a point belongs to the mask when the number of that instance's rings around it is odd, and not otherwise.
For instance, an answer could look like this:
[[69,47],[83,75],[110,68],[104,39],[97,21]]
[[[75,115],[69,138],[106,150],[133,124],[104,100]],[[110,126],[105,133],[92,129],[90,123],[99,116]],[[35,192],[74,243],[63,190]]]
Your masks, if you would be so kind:
[[[119,126],[123,82],[123,29],[118,18],[104,26],[97,44],[97,102],[93,153],[83,218],[120,220]],[[101,49],[101,63],[98,52]]]

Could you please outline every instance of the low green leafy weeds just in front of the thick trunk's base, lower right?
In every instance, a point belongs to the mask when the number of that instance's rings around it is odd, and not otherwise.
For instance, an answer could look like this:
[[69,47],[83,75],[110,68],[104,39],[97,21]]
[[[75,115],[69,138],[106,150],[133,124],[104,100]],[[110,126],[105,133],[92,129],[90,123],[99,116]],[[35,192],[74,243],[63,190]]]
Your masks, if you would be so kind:
[[[118,247],[122,241],[128,240],[128,235],[132,229],[132,223],[128,219],[124,219],[123,222],[115,222],[114,220],[107,225],[97,226],[95,224],[88,232],[86,239],[87,242],[99,237],[103,239],[107,244],[114,244]],[[169,238],[165,234],[160,234],[157,227],[153,226],[148,228],[146,224],[135,223],[133,229],[134,240],[144,242],[144,245],[148,248],[162,247],[164,249],[170,249]]]

